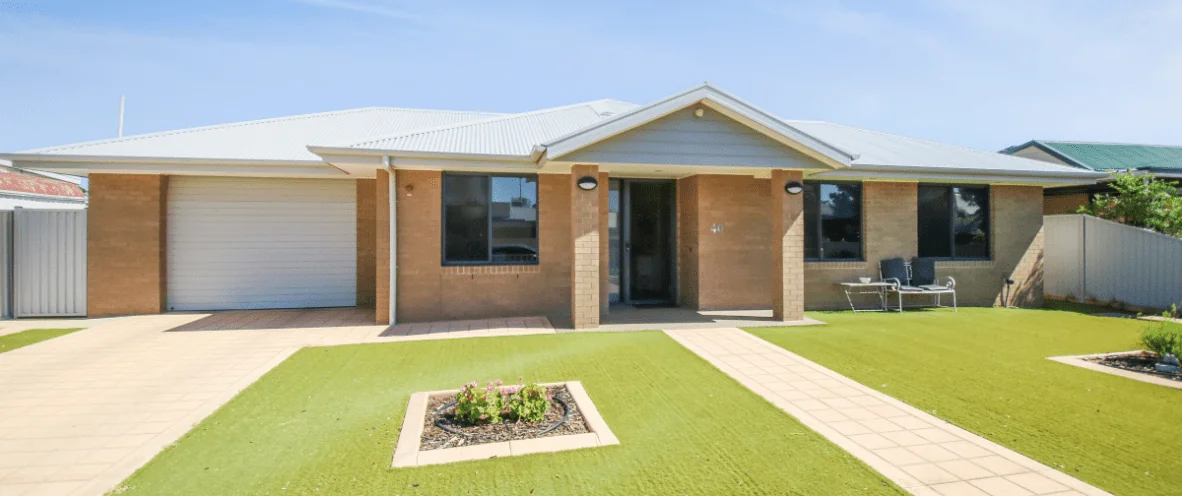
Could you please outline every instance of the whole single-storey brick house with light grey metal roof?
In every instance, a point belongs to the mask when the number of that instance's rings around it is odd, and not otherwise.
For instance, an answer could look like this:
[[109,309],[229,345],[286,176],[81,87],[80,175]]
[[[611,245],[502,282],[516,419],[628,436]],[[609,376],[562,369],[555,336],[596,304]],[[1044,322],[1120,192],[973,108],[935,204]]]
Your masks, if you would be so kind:
[[839,308],[883,257],[1041,304],[1043,189],[1103,172],[824,122],[714,86],[522,113],[366,107],[5,154],[90,177],[91,316],[374,306],[378,322],[612,302]]

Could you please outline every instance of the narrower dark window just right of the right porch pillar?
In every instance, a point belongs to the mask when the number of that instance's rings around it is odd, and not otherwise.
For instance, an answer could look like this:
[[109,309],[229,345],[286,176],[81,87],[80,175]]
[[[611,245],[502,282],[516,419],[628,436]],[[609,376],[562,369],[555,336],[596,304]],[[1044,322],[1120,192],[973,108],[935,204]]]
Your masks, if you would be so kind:
[[805,259],[862,259],[862,184],[805,183]]

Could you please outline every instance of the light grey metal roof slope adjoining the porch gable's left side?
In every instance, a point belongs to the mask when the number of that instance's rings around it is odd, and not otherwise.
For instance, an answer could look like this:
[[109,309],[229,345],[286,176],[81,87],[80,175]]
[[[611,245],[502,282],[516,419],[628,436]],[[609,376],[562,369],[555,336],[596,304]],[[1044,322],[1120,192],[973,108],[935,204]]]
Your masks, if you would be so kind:
[[416,130],[351,144],[361,150],[530,156],[533,146],[565,136],[637,105],[596,100],[574,105],[512,113],[483,120]]

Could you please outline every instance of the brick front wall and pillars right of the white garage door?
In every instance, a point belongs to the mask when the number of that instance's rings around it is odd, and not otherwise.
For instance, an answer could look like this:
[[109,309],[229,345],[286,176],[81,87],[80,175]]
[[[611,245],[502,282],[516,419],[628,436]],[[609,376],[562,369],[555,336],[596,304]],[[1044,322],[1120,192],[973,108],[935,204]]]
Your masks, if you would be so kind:
[[[398,321],[434,321],[491,316],[567,314],[576,325],[598,325],[606,307],[606,191],[608,178],[593,168],[572,175],[540,175],[538,266],[443,267],[441,260],[442,177],[437,171],[398,171]],[[577,196],[574,181],[597,175],[600,188]],[[681,306],[700,309],[768,308],[777,293],[784,314],[793,319],[803,299],[808,309],[847,308],[837,283],[870,275],[878,261],[916,256],[916,183],[863,183],[864,261],[804,262],[803,196],[790,197],[782,184],[751,176],[700,175],[677,181],[677,282]],[[798,177],[799,178],[799,177]],[[376,295],[378,320],[385,321],[385,281],[389,276],[385,178],[379,172],[376,200]],[[1001,302],[1001,276],[1015,280],[1012,305],[1040,306],[1043,281],[1041,188],[991,188],[993,260],[949,261],[937,275],[957,281],[960,305]],[[773,196],[775,195],[775,196]],[[779,198],[780,202],[773,202]],[[780,226],[772,226],[769,208],[779,208]],[[579,215],[582,211],[593,213]],[[572,226],[578,229],[572,229]],[[720,226],[715,233],[713,226]],[[778,229],[778,230],[773,230]],[[782,233],[782,256],[774,255],[774,233]],[[580,234],[577,234],[580,233]],[[574,246],[582,240],[576,255]],[[593,244],[593,246],[590,246]],[[792,256],[792,254],[797,254]],[[582,255],[582,256],[580,256]],[[582,261],[579,263],[576,259]],[[781,266],[777,267],[777,260]],[[361,270],[361,266],[358,266]],[[579,274],[586,278],[574,285]],[[775,278],[784,278],[782,289]],[[795,282],[793,282],[795,280]],[[585,294],[591,292],[593,294]],[[572,305],[572,302],[578,304]],[[591,312],[596,309],[596,312]],[[591,314],[595,319],[591,319]],[[799,318],[799,316],[797,316]],[[593,322],[593,324],[592,324]]]

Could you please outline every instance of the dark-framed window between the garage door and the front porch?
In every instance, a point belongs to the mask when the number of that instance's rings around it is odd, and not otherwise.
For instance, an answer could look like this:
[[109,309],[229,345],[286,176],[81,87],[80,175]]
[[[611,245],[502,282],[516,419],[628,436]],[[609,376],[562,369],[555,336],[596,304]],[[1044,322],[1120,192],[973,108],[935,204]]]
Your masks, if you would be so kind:
[[444,174],[443,263],[538,263],[538,176]]

